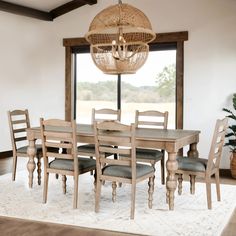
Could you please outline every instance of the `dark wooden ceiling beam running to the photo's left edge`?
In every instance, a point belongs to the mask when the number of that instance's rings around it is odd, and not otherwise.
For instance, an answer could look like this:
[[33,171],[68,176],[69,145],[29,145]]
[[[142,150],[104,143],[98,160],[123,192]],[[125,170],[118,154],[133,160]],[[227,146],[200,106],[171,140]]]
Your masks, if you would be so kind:
[[52,15],[48,12],[40,11],[30,7],[24,7],[18,4],[9,3],[5,1],[0,1],[0,10],[45,21],[53,20]]

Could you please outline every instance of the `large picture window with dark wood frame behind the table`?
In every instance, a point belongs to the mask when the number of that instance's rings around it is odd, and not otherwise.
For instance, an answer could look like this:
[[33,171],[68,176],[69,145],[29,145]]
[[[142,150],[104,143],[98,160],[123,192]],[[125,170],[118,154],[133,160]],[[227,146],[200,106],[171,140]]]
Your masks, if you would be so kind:
[[183,128],[186,40],[186,31],[157,34],[143,68],[133,75],[111,76],[93,65],[84,38],[64,39],[65,119],[90,123],[93,107],[110,107],[121,108],[122,121],[130,123],[134,110],[168,110],[169,128]]

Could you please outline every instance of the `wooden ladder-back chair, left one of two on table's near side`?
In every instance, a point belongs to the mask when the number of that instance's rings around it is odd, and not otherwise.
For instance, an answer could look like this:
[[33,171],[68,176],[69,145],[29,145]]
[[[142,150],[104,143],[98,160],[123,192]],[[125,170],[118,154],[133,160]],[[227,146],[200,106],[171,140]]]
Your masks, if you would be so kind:
[[[75,121],[41,118],[40,127],[44,158],[43,202],[47,202],[49,173],[62,175],[64,193],[66,193],[66,175],[69,175],[74,179],[73,208],[77,208],[79,175],[95,170],[96,161],[78,158]],[[53,152],[53,148],[59,148],[61,151]],[[66,149],[67,153],[62,152],[63,149]],[[49,161],[49,157],[55,159]]]

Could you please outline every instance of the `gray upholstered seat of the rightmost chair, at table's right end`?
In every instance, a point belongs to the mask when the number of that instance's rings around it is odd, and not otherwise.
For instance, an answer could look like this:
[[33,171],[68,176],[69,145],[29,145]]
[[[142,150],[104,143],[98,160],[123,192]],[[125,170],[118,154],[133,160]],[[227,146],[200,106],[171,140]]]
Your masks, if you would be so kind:
[[186,171],[205,172],[207,159],[193,157],[177,157],[178,168]]

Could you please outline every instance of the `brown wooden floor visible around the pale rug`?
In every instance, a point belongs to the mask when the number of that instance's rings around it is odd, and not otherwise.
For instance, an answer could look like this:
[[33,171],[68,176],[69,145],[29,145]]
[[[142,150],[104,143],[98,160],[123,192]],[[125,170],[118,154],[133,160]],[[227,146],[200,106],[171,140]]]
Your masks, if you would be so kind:
[[[27,159],[19,159],[17,170],[26,168]],[[12,158],[0,159],[0,175],[10,173],[12,165]],[[201,180],[197,180],[200,181]],[[225,174],[221,177],[221,183],[236,184],[236,180],[232,179],[229,175]],[[30,222],[30,224],[29,224]],[[52,223],[43,223],[37,221],[28,221],[10,217],[0,216],[0,235],[1,236],[134,236],[135,234],[90,229],[83,227],[75,227],[68,225],[59,225]],[[236,210],[224,229],[222,236],[235,236],[236,235]]]

